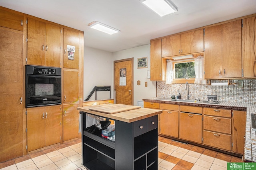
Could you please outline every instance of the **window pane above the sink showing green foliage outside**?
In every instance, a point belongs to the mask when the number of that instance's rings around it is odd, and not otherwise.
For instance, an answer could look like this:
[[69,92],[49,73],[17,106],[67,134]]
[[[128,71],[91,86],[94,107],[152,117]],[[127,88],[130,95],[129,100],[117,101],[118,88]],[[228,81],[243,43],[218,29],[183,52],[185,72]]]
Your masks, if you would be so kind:
[[195,78],[195,62],[174,63],[175,78]]

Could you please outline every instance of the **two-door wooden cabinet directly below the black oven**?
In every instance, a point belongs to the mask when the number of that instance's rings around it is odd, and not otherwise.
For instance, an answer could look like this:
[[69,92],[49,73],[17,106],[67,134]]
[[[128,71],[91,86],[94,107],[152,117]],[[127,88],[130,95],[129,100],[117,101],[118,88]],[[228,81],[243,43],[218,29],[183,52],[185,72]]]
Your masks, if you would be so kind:
[[60,143],[61,106],[27,108],[28,152]]

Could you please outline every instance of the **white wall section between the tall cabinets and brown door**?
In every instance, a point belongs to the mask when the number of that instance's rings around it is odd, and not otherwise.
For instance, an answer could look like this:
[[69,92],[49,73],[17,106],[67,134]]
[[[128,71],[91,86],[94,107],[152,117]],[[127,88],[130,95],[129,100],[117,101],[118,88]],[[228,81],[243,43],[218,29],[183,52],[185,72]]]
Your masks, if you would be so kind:
[[[113,98],[112,53],[84,46],[84,100],[94,86],[111,86]],[[95,93],[94,93],[95,95]],[[95,100],[95,96],[90,100]],[[109,98],[109,92],[97,92],[97,99]]]

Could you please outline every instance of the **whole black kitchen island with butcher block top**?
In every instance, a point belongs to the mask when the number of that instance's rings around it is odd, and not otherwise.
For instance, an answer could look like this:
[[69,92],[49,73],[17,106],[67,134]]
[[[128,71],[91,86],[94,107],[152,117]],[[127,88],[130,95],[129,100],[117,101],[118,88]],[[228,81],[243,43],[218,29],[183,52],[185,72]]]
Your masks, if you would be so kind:
[[[82,114],[82,164],[87,169],[158,169],[158,114],[162,111],[128,107],[102,104],[77,108]],[[87,114],[114,120],[114,141],[87,132]]]

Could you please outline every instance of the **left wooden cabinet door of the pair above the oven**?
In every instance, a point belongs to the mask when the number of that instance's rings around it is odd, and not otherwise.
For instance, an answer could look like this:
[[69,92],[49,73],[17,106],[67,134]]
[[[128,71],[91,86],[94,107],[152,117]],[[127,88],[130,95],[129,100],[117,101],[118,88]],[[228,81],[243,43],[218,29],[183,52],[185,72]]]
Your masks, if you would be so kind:
[[27,64],[45,65],[45,23],[28,18]]

